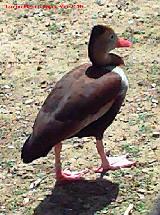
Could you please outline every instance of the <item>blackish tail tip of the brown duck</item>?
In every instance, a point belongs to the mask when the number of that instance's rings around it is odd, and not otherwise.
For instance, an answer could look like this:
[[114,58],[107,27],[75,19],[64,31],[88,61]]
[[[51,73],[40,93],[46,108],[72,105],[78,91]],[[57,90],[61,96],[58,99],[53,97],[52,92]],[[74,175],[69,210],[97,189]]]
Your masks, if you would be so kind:
[[40,157],[45,157],[52,145],[43,141],[43,138],[34,138],[31,134],[22,147],[21,159],[24,163],[31,163]]

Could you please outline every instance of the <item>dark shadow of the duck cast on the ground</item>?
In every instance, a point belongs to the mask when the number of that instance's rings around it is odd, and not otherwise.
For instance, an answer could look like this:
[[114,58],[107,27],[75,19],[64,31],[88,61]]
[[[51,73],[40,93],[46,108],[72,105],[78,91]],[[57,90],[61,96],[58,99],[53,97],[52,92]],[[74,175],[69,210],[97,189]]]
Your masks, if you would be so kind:
[[104,179],[57,184],[34,215],[93,215],[115,201],[118,192],[118,184]]

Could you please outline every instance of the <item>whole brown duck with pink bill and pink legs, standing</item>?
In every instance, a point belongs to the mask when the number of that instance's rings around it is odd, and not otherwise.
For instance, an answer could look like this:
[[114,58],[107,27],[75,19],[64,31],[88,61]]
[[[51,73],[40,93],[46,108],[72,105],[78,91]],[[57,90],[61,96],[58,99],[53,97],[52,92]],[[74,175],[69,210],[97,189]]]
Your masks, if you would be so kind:
[[62,141],[92,136],[101,159],[96,173],[135,164],[126,155],[106,156],[103,144],[104,132],[119,113],[128,90],[128,79],[122,69],[124,60],[111,51],[131,46],[129,40],[119,38],[109,26],[92,28],[88,43],[90,62],[74,68],[55,84],[22,147],[24,163],[45,157],[54,148],[56,180],[79,180],[84,171],[62,169]]

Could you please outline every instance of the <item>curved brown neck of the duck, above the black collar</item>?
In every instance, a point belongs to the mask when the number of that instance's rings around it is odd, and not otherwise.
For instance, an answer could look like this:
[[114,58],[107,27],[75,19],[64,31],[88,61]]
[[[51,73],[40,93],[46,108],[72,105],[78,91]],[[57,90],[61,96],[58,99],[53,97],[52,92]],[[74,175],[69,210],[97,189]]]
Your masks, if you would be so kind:
[[112,53],[106,53],[106,48],[100,45],[98,41],[89,42],[88,55],[93,65],[95,66],[119,66],[124,65],[123,59]]

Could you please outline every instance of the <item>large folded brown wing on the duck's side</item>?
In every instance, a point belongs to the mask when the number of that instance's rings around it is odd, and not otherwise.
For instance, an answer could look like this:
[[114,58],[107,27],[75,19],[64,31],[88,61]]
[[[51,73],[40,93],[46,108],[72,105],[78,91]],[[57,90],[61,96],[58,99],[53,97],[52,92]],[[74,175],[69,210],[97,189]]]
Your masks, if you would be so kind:
[[111,107],[120,86],[121,78],[113,72],[98,79],[87,77],[84,68],[78,79],[68,74],[46,99],[34,135],[50,134],[56,142],[73,135]]

